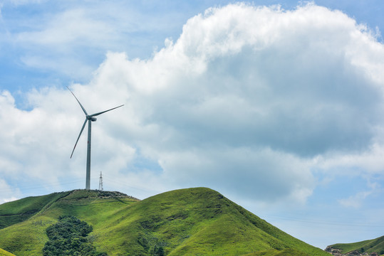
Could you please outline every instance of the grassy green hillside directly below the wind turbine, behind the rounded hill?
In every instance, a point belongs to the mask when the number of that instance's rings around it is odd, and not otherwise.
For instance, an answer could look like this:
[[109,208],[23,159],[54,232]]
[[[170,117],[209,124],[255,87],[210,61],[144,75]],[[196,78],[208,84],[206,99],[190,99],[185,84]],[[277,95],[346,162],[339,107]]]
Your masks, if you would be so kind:
[[[55,196],[59,194],[59,196]],[[43,196],[46,197],[46,196]],[[116,210],[135,203],[137,199],[130,197],[105,196],[103,191],[69,191],[53,193],[47,197],[56,198],[27,220],[0,230],[0,247],[17,256],[42,255],[43,246],[48,241],[46,228],[58,221],[61,215],[75,215],[91,225],[102,223]],[[21,199],[23,200],[23,199]],[[36,201],[36,198],[32,198]],[[14,203],[14,204],[11,204]],[[21,205],[16,201],[1,205],[7,208],[9,204]],[[28,201],[24,201],[28,205]],[[19,207],[23,208],[23,207]],[[17,213],[17,211],[16,211]]]

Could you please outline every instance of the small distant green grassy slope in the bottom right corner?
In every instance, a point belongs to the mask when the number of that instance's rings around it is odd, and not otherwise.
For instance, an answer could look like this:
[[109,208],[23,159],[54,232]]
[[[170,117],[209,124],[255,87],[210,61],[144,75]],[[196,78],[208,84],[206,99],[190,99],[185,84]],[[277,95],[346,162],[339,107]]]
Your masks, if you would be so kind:
[[365,240],[361,242],[352,242],[346,244],[339,243],[330,246],[336,249],[340,249],[343,253],[356,250],[358,252],[368,253],[377,252],[379,255],[384,255],[384,236],[372,240]]

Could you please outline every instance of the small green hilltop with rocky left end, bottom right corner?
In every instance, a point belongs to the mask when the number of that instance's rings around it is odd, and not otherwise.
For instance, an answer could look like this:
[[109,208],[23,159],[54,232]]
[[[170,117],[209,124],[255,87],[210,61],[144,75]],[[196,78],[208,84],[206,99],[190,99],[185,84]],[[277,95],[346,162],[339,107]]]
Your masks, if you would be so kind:
[[384,236],[371,240],[351,243],[338,243],[329,245],[326,248],[327,252],[333,255],[384,255]]

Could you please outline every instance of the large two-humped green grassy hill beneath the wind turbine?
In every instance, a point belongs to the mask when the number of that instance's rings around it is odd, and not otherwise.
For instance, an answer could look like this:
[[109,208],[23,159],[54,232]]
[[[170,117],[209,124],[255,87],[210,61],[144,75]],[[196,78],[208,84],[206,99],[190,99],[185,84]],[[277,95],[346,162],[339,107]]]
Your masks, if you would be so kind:
[[8,224],[0,229],[0,247],[18,256],[42,255],[46,228],[61,215],[92,225],[93,245],[108,255],[154,255],[160,247],[165,255],[329,255],[209,188],[170,191],[143,201],[80,190],[5,203],[0,220]]

